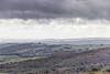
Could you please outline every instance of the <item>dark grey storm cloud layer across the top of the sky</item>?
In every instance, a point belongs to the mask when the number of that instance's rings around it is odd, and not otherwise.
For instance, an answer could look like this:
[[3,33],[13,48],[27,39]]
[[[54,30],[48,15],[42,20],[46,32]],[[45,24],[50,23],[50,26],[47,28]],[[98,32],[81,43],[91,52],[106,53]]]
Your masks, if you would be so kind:
[[110,19],[110,0],[0,0],[0,18]]

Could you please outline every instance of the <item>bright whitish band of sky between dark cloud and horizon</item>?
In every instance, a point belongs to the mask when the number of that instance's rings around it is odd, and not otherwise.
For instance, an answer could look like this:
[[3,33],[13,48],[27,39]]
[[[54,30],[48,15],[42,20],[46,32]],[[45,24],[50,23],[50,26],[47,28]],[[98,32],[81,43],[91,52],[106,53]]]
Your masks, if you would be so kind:
[[[45,22],[45,23],[42,23]],[[72,22],[69,22],[72,21]],[[74,22],[73,22],[74,21]],[[0,20],[0,39],[77,39],[110,38],[106,20]]]

